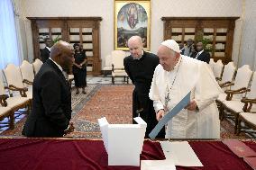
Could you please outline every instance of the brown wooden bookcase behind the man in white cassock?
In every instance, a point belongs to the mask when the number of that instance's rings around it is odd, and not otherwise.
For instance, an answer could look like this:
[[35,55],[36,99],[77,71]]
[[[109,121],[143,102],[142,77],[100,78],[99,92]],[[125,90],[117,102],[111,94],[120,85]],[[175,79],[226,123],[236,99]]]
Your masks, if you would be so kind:
[[[182,40],[178,43],[186,43],[192,37],[190,28],[195,28],[195,37],[212,37],[210,43],[213,51],[212,58],[222,59],[224,64],[232,60],[233,30],[235,20],[238,17],[162,17],[164,25],[164,40],[177,38],[173,28],[182,28]],[[213,29],[212,32],[204,32],[204,29]],[[226,31],[222,32],[222,30]],[[197,43],[197,40],[196,42]]]

